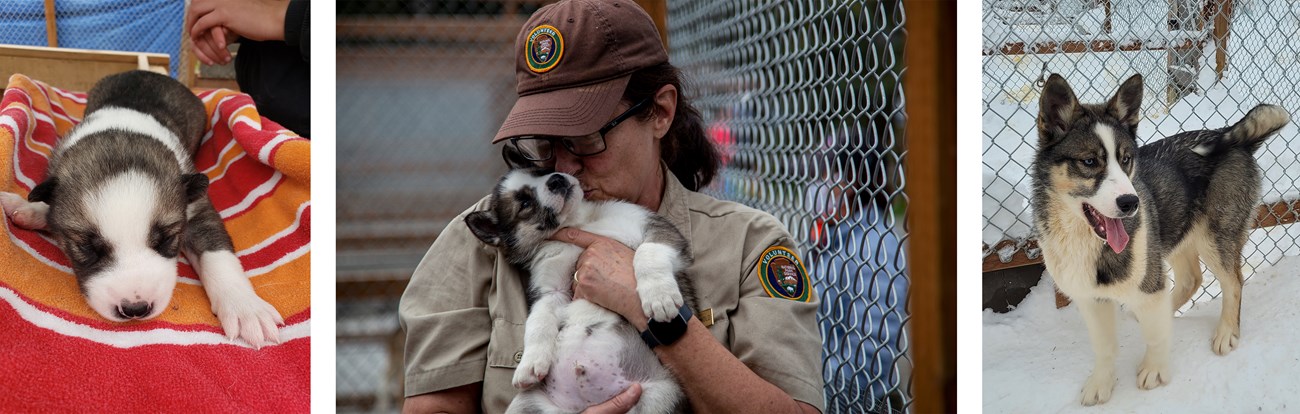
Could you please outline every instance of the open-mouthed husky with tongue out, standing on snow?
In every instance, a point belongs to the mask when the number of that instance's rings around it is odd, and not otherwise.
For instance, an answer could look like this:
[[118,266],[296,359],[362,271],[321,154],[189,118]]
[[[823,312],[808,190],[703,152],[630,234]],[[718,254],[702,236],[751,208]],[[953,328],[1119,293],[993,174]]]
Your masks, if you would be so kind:
[[1109,401],[1115,385],[1115,303],[1134,311],[1147,342],[1138,387],[1169,383],[1173,312],[1200,288],[1200,259],[1223,288],[1210,348],[1219,355],[1236,348],[1242,249],[1260,199],[1253,154],[1290,121],[1282,108],[1258,105],[1232,126],[1139,147],[1141,94],[1134,76],[1105,104],[1080,104],[1052,74],[1039,108],[1034,219],[1048,271],[1083,312],[1096,353],[1083,405]]

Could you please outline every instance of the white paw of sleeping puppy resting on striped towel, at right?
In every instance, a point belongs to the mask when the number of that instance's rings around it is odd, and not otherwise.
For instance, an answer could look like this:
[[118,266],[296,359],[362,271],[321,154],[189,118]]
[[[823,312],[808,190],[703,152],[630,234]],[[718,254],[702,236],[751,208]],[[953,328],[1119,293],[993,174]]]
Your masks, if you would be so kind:
[[256,349],[280,344],[278,325],[285,324],[285,318],[257,293],[213,297],[212,312],[221,320],[228,338],[242,338]]

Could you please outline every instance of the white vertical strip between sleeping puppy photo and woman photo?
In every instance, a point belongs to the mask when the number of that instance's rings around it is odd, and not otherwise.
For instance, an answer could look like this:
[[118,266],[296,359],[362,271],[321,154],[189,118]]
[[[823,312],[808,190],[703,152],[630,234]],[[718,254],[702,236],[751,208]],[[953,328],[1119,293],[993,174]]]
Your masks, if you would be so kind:
[[312,42],[312,413],[334,413],[335,126],[334,1],[311,10]]

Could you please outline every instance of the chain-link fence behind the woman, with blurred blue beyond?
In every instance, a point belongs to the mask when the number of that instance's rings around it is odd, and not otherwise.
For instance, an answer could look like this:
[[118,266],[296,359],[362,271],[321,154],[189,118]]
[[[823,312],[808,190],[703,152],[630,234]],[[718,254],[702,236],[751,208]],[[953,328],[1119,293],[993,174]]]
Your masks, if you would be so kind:
[[901,1],[670,1],[671,60],[727,167],[714,194],[771,212],[822,294],[827,411],[911,404]]

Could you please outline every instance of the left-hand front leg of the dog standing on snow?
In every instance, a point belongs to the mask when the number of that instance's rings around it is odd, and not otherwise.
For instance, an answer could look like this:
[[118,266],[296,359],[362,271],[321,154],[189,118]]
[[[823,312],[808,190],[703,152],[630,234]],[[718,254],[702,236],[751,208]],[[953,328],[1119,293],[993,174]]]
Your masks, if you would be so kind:
[[[1119,350],[1115,340],[1115,303],[1086,298],[1075,301],[1075,305],[1079,306],[1083,322],[1088,325],[1092,353],[1097,358],[1092,375],[1083,384],[1082,402],[1089,406],[1104,404],[1110,401],[1110,392],[1115,388],[1115,353]],[[1167,306],[1165,310],[1169,310]]]

